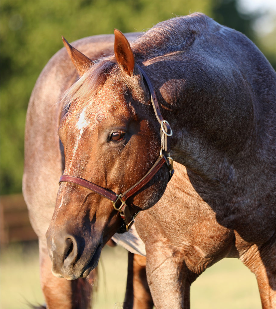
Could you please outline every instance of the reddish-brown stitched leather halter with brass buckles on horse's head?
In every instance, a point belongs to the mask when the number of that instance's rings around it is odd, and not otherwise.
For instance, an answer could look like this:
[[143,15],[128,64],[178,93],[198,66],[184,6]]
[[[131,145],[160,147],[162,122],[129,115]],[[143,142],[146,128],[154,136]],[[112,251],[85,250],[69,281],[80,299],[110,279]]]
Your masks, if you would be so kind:
[[170,148],[169,138],[173,135],[172,129],[170,128],[169,122],[164,120],[161,115],[155,91],[153,89],[153,86],[147,74],[144,72],[144,70],[142,70],[140,66],[139,66],[139,70],[142,73],[143,78],[146,81],[146,84],[148,86],[148,89],[151,95],[151,102],[152,102],[153,109],[155,112],[155,116],[161,126],[160,128],[160,135],[161,135],[160,156],[154,163],[153,167],[135,185],[133,185],[126,192],[119,194],[119,195],[113,192],[112,190],[102,188],[98,186],[97,184],[93,184],[92,182],[79,178],[79,177],[63,175],[61,176],[59,180],[59,183],[70,182],[72,184],[77,184],[79,186],[85,187],[95,193],[98,193],[102,197],[105,197],[108,200],[110,200],[115,210],[119,211],[120,216],[121,218],[123,218],[123,221],[124,221],[124,225],[120,228],[120,232],[128,231],[130,227],[132,226],[132,224],[134,223],[134,219],[136,218],[137,214],[139,214],[140,212],[138,211],[134,214],[130,213],[129,206],[126,204],[126,201],[128,200],[128,198],[134,195],[136,192],[138,192],[141,188],[143,188],[153,178],[153,176],[160,170],[160,168],[163,166],[164,163],[167,164],[167,167],[169,169],[169,179],[174,173],[173,159],[171,158],[169,154],[169,148]]

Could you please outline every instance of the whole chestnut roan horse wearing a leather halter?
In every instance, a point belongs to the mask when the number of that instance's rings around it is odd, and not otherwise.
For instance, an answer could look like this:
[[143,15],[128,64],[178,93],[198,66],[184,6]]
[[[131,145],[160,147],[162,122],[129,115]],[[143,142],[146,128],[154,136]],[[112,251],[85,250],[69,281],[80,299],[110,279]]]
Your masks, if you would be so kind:
[[104,56],[110,38],[79,42],[83,53],[64,40],[74,66],[65,49],[56,54],[28,107],[23,193],[47,306],[76,306],[72,280],[84,282],[102,246],[135,219],[155,307],[189,308],[190,283],[215,260],[198,246],[202,233],[182,226],[174,190],[166,199],[171,183],[232,235],[219,255],[239,257],[256,275],[262,307],[274,307],[274,70],[248,38],[198,13],[138,37],[115,30],[114,55]]

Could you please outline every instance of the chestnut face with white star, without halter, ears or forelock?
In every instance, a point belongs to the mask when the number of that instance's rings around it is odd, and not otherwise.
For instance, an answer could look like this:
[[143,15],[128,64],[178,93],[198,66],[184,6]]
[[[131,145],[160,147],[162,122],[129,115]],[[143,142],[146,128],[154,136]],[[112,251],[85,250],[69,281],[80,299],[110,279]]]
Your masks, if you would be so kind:
[[[142,87],[131,92],[118,74],[111,74],[89,105],[72,103],[59,129],[64,174],[117,194],[136,184],[160,153],[160,128],[147,96]],[[133,213],[154,205],[167,182],[168,171],[162,167],[128,200]],[[76,184],[61,183],[46,234],[53,273],[70,280],[86,277],[121,224],[110,201]]]

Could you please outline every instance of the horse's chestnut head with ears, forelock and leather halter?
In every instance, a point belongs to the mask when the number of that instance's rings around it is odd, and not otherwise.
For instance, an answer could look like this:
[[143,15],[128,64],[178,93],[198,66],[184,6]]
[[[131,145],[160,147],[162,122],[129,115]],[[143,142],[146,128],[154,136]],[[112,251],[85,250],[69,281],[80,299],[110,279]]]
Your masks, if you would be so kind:
[[[80,78],[63,98],[67,112],[58,134],[67,176],[46,237],[52,272],[70,280],[86,277],[122,218],[132,223],[161,198],[169,181],[148,84],[127,39],[114,33],[115,56],[95,62],[64,39]],[[162,121],[164,132],[166,126]]]

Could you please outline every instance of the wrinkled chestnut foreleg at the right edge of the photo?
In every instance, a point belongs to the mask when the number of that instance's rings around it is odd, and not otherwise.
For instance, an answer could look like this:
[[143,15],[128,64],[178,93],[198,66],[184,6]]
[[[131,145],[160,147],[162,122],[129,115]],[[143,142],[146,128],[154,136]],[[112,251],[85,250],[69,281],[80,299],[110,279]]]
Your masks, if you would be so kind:
[[266,244],[253,245],[240,260],[256,276],[263,309],[276,308],[275,233]]

